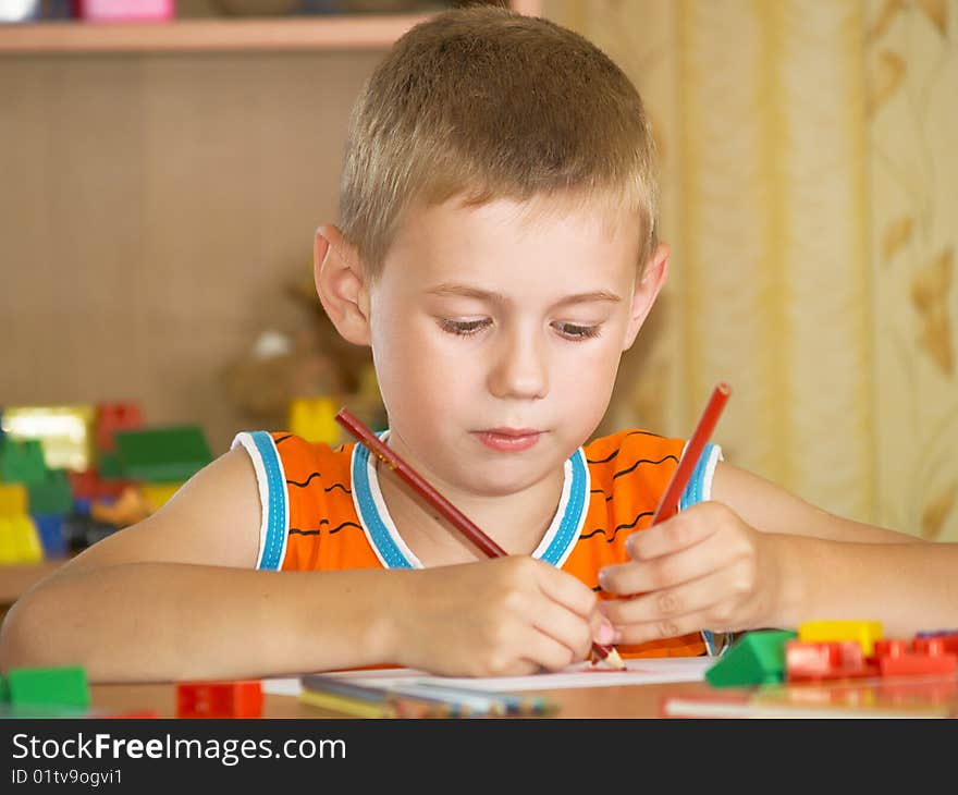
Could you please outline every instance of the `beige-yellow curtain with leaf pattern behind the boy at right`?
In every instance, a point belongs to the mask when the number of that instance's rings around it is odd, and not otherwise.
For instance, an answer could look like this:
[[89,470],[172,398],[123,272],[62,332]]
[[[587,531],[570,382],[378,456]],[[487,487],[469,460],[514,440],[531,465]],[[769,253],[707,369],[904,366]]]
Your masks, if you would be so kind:
[[671,280],[603,430],[958,540],[958,0],[546,0],[632,77]]

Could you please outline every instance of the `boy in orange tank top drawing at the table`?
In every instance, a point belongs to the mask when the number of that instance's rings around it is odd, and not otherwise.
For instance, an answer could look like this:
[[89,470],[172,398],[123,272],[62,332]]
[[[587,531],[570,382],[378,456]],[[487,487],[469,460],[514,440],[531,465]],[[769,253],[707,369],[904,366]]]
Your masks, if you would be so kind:
[[592,640],[700,655],[707,629],[956,623],[954,548],[831,516],[715,447],[685,510],[639,533],[683,440],[580,447],[668,248],[641,101],[579,36],[483,7],[404,36],[357,101],[341,229],[319,230],[315,262],[339,332],[372,348],[388,443],[509,555],[477,560],[363,445],[241,433],[24,596],[2,668],[524,674]]

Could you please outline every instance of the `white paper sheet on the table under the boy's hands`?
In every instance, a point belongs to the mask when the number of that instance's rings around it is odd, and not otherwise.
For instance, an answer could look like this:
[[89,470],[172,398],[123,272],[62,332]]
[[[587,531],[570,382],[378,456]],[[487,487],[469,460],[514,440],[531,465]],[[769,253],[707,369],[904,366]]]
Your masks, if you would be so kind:
[[[409,668],[337,671],[334,675],[347,682],[371,687],[391,687],[400,683],[429,682],[454,687],[509,693],[518,690],[549,690],[558,687],[610,687],[612,685],[650,685],[663,682],[701,682],[705,671],[716,661],[714,657],[665,657],[626,660],[625,671],[590,670],[591,663],[572,665],[556,673],[532,676],[496,676],[491,678],[458,678],[433,676]],[[265,693],[274,696],[298,696],[303,689],[299,677],[267,678]]]

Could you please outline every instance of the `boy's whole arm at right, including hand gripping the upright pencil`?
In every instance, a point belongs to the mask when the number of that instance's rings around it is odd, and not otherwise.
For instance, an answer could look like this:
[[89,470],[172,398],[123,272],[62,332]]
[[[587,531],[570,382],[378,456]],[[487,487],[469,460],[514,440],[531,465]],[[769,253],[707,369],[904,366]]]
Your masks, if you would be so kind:
[[711,500],[626,542],[600,573],[636,598],[603,602],[625,643],[699,629],[880,621],[889,636],[958,627],[958,545],[930,543],[822,511],[728,464]]

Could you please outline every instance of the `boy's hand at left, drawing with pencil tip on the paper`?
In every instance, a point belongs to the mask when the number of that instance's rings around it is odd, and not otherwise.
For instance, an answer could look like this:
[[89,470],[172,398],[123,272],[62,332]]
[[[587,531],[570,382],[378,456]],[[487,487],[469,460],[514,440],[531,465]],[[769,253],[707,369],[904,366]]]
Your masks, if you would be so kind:
[[584,660],[611,624],[592,590],[526,555],[395,572],[391,659],[450,676],[518,676]]

